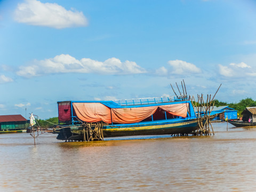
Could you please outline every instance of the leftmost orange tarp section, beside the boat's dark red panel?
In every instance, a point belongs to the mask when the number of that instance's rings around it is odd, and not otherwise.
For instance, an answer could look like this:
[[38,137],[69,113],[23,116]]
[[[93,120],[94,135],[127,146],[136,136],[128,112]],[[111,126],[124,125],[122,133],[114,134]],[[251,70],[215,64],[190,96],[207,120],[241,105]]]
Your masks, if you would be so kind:
[[110,108],[101,103],[73,103],[76,115],[84,122],[111,123]]

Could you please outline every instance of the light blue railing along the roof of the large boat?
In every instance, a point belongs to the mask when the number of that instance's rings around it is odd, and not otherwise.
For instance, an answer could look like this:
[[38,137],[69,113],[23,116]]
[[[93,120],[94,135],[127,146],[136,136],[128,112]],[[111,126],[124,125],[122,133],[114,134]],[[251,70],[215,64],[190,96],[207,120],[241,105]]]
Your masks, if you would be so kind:
[[185,101],[187,100],[186,95],[178,95],[172,97],[154,97],[154,98],[140,98],[140,99],[123,99],[123,100],[113,100],[121,106],[131,106],[131,105],[143,105],[143,104],[156,104],[164,102],[173,101]]

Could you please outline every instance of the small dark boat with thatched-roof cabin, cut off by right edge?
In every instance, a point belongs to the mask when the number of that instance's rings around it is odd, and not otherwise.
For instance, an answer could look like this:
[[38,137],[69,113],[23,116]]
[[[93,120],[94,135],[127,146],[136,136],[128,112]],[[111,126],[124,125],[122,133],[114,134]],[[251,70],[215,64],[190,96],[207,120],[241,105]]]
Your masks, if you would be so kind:
[[228,123],[236,127],[256,126],[256,107],[246,107],[241,115],[243,115],[242,121],[227,119]]

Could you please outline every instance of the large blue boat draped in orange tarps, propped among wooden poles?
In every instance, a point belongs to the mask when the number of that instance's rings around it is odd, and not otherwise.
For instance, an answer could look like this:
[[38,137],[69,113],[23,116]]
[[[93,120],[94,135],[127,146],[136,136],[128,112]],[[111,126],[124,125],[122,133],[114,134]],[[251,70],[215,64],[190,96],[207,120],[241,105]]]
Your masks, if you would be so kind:
[[[211,116],[217,112],[212,111]],[[58,101],[59,140],[83,141],[83,124],[101,124],[103,137],[193,134],[198,119],[187,98],[143,98],[114,101]],[[64,123],[64,124],[63,124]]]

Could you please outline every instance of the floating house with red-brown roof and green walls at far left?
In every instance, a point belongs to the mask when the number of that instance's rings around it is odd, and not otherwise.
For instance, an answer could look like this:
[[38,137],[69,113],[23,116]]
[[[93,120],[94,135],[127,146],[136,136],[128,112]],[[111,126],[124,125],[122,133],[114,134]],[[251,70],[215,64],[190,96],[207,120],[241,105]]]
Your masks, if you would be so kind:
[[1,131],[25,130],[27,119],[21,115],[0,115]]

